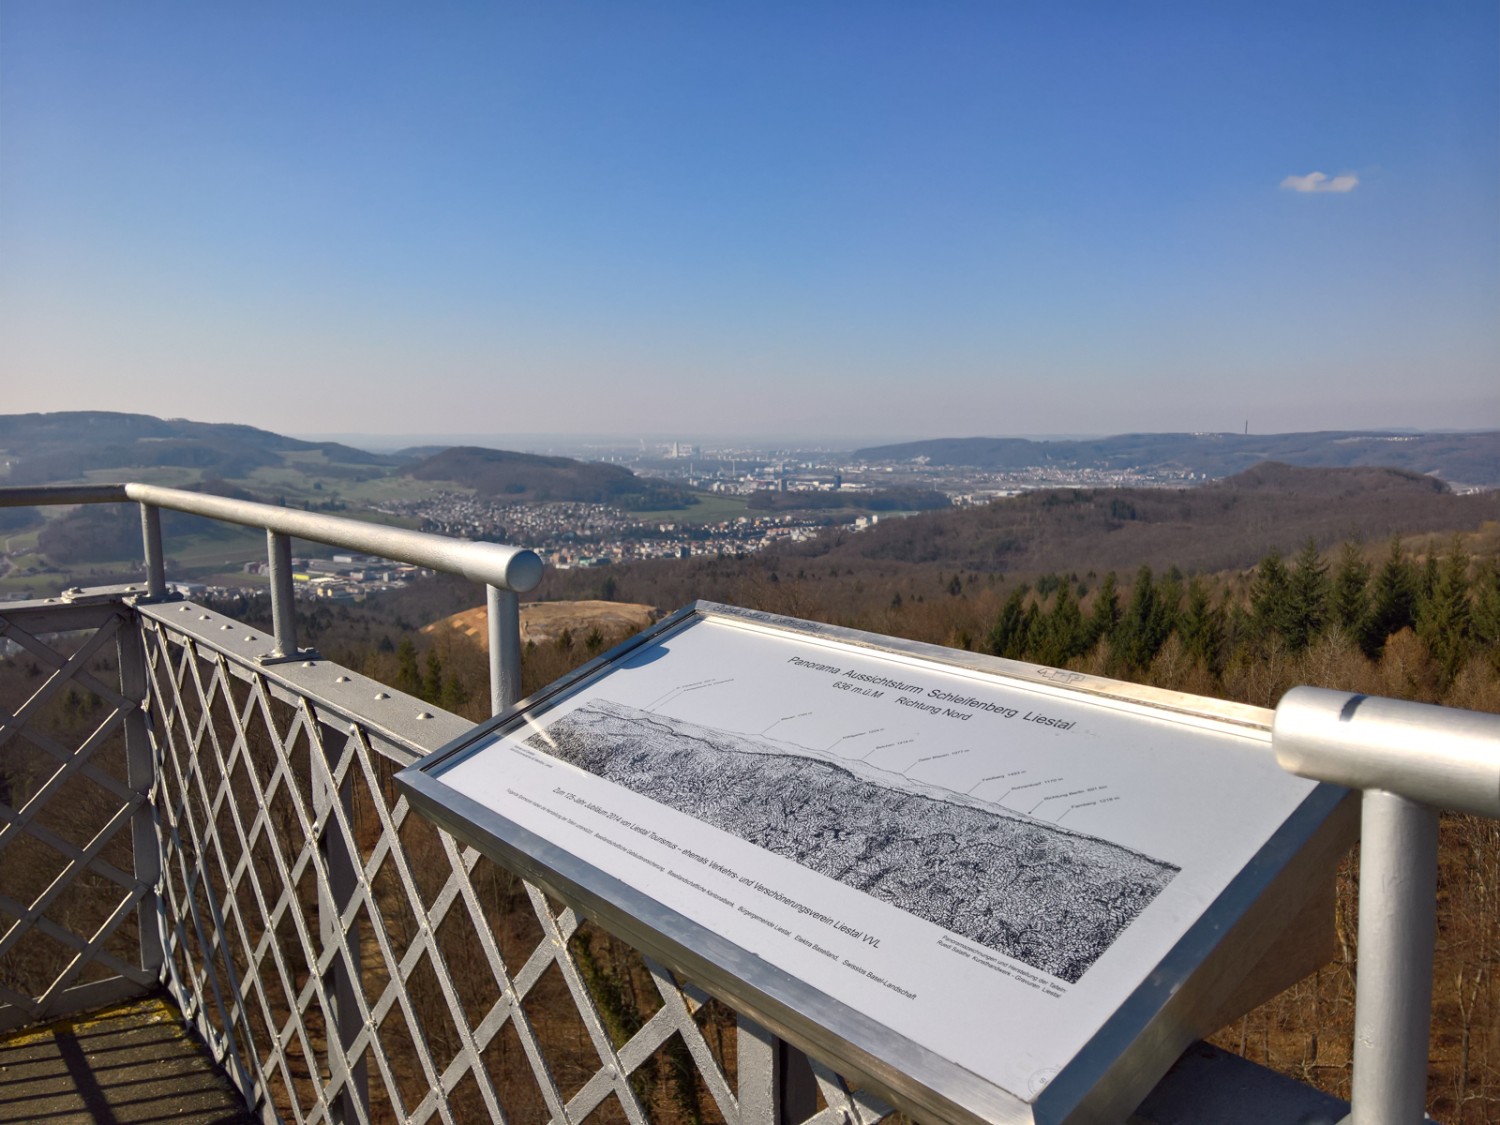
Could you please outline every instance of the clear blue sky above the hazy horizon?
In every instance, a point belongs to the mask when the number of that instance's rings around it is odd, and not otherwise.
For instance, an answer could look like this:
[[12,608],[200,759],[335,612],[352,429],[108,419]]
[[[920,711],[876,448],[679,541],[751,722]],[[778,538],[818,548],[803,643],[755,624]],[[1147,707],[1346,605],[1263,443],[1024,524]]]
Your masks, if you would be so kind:
[[1494,428],[1500,15],[6,0],[0,380],[298,434]]

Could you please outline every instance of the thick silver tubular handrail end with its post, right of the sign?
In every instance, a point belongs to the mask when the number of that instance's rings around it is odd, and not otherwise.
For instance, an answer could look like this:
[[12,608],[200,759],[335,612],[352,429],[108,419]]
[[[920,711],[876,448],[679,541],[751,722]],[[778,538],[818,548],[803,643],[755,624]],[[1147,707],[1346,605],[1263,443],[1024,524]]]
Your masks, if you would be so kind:
[[1284,770],[1362,789],[1353,1125],[1416,1125],[1426,1101],[1438,810],[1500,819],[1500,716],[1322,687],[1282,696]]

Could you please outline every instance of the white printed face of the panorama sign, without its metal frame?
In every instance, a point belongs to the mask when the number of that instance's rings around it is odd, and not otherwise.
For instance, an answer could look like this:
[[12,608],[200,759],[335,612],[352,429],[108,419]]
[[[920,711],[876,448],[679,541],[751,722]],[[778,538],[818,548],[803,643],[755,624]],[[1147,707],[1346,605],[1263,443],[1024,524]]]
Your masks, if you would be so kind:
[[441,783],[1023,1101],[1312,789],[1260,730],[726,616],[502,730]]

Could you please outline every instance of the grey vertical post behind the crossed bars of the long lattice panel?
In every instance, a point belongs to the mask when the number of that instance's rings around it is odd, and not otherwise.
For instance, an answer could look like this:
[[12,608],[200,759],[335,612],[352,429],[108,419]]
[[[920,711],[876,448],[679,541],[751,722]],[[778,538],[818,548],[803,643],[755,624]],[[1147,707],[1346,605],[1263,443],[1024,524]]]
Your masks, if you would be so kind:
[[[322,831],[318,836],[318,852],[324,868],[328,873],[327,890],[320,888],[318,894],[318,933],[324,950],[338,948],[340,940],[348,940],[350,956],[336,956],[322,978],[322,987],[333,1002],[328,1020],[328,1058],[333,1059],[332,1042],[336,1040],[344,1058],[350,1058],[354,1040],[364,1026],[360,1018],[358,990],[363,987],[363,968],[360,957],[360,922],[356,916],[350,928],[344,930],[344,910],[354,900],[358,891],[356,864],[358,856],[350,852],[339,822],[333,814],[334,806],[344,813],[345,824],[354,826],[354,778],[352,768],[344,774],[344,782],[334,788],[333,778],[338,776],[339,758],[348,746],[348,735],[332,728],[320,726],[324,760],[327,764],[327,782],[314,782],[315,808]],[[336,1125],[369,1119],[369,1066],[364,1056],[350,1066],[348,1082],[333,1100],[333,1116]]]

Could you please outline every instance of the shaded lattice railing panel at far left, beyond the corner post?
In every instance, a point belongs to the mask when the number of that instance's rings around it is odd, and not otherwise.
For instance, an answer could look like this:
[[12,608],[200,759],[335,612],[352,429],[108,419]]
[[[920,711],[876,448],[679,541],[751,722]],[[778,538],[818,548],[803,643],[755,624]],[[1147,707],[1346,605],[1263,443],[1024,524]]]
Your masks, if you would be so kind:
[[126,610],[20,606],[0,633],[14,646],[0,658],[3,1028],[147,987],[142,904],[156,922],[132,844],[150,807],[129,777]]

